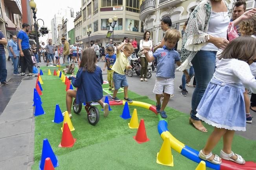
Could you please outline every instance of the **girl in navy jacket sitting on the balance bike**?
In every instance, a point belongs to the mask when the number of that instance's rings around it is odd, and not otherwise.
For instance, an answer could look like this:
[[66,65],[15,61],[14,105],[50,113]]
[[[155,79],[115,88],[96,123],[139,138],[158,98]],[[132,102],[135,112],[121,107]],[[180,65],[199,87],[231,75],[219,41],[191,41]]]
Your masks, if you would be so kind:
[[97,56],[94,49],[85,49],[76,76],[70,75],[73,86],[77,88],[77,90],[68,90],[66,92],[66,108],[70,118],[72,118],[71,105],[73,97],[76,98],[77,104],[97,101],[103,108],[104,117],[109,114],[109,105],[101,101],[103,97],[101,86],[103,78],[101,68],[96,65],[96,62]]

